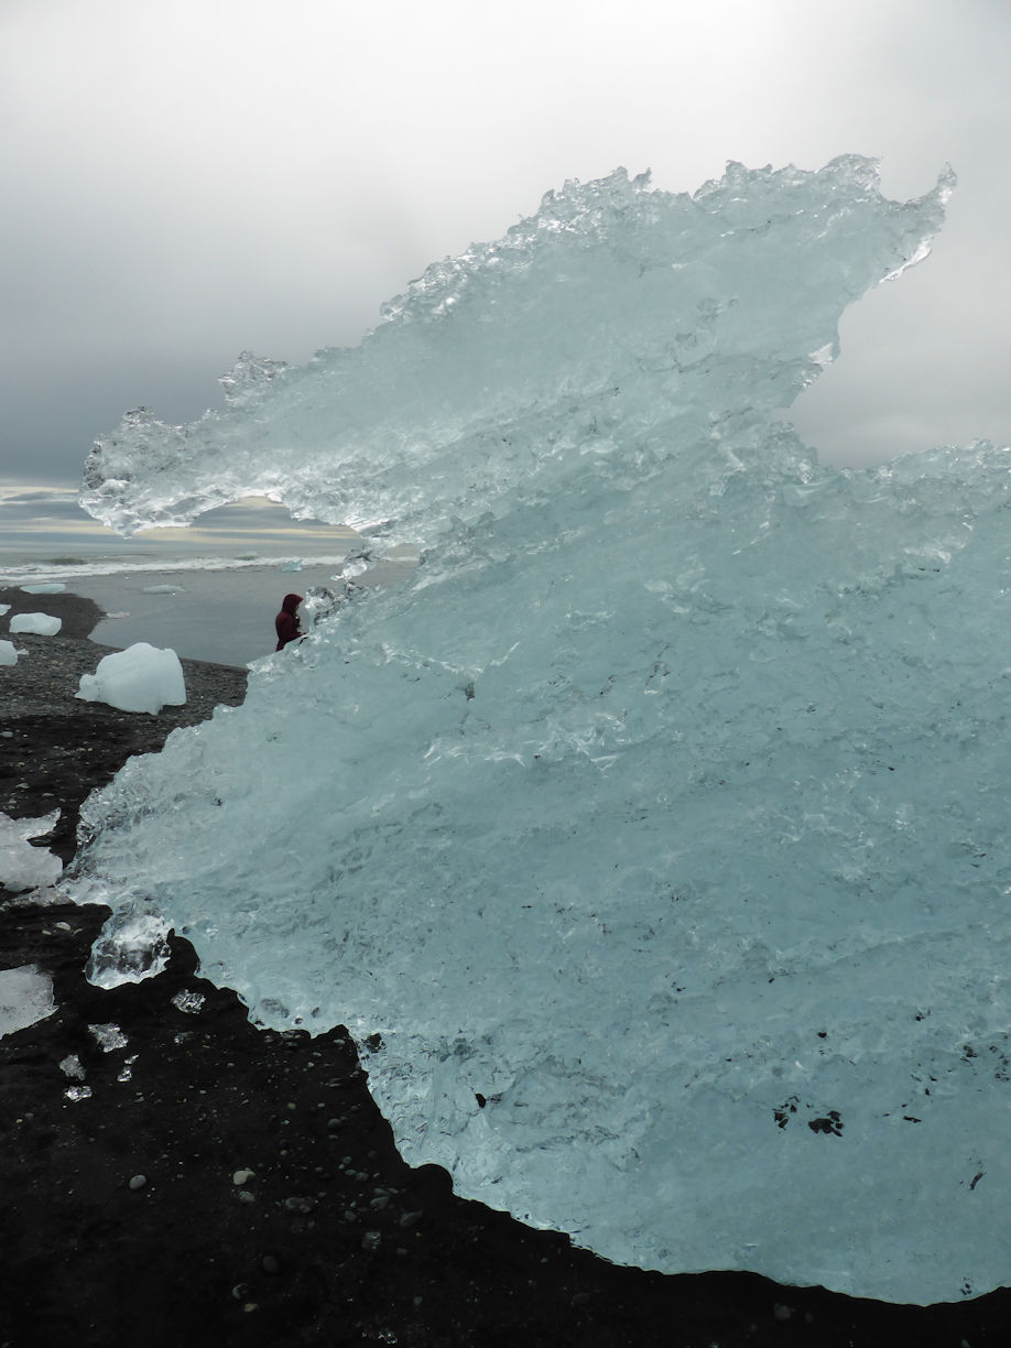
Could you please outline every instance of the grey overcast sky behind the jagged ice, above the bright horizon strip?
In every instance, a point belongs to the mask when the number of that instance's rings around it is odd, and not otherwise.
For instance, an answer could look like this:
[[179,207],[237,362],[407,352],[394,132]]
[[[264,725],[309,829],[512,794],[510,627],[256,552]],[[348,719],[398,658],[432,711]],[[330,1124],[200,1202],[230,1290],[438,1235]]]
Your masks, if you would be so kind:
[[429,262],[619,164],[958,189],[842,322],[822,458],[1011,441],[1008,0],[0,0],[0,480],[75,484],[243,349],[353,345]]

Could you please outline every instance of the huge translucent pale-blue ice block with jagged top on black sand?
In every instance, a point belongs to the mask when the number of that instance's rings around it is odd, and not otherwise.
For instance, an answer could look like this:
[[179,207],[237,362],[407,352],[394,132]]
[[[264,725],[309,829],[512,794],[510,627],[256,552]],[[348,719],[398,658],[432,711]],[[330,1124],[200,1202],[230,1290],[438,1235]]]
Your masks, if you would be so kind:
[[263,1023],[379,1034],[408,1161],[613,1260],[1007,1282],[1011,452],[775,419],[949,189],[568,183],[100,441],[123,531],[260,492],[422,562],[90,798],[93,976],[173,925]]

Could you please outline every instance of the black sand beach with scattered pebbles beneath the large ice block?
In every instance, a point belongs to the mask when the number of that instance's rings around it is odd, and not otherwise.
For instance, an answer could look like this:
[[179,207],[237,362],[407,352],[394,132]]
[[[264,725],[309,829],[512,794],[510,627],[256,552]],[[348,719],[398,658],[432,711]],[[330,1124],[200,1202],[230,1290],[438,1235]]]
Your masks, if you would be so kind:
[[[0,809],[59,806],[44,845],[69,861],[85,795],[174,727],[241,702],[245,671],[183,661],[189,701],[159,716],[81,702],[78,677],[108,650],[86,639],[98,609],[16,589],[0,603],[63,619],[55,638],[15,636],[28,654],[0,667]],[[158,977],[93,988],[106,911],[0,886],[0,968],[49,972],[58,1004],[0,1039],[0,1348],[1011,1341],[1006,1290],[925,1309],[754,1274],[662,1277],[457,1198],[443,1170],[400,1161],[345,1030],[253,1029],[181,938]],[[205,1000],[182,1010],[179,993]],[[88,1027],[105,1024],[125,1047],[102,1050]],[[69,1055],[88,1099],[67,1097]],[[236,1185],[239,1170],[253,1174]]]

